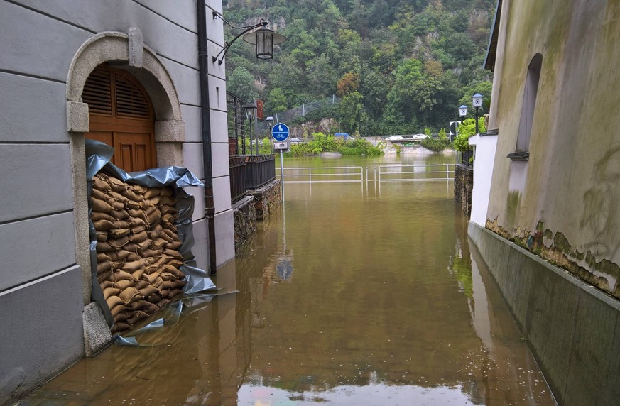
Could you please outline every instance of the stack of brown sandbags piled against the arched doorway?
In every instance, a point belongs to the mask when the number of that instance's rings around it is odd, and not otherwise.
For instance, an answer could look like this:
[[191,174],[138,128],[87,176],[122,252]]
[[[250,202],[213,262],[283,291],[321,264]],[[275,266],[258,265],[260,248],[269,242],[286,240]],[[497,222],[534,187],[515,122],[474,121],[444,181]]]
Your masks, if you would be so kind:
[[91,202],[97,280],[114,317],[112,332],[124,331],[183,292],[173,190],[97,174]]

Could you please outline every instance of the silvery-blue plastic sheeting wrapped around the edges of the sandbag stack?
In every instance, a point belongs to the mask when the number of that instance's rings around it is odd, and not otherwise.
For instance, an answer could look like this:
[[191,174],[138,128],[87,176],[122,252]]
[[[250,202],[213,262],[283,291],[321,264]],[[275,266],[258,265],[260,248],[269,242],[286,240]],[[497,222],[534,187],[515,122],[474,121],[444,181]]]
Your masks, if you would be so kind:
[[114,318],[105,301],[103,291],[97,281],[97,232],[94,229],[90,216],[92,204],[90,194],[92,192],[92,178],[99,172],[116,177],[123,182],[133,183],[146,187],[172,186],[175,189],[177,199],[176,209],[178,210],[178,220],[175,224],[178,236],[181,241],[179,253],[183,256],[183,265],[180,266],[181,272],[185,274],[184,292],[186,295],[217,290],[217,287],[209,278],[207,271],[197,268],[196,258],[192,254],[194,246],[194,233],[192,231],[192,214],[194,212],[194,197],[185,190],[186,186],[202,187],[202,182],[195,177],[190,170],[179,166],[168,168],[154,168],[142,172],[125,172],[121,168],[113,165],[110,160],[114,154],[114,148],[105,143],[94,140],[85,140],[86,146],[86,176],[88,192],[88,216],[90,231],[90,268],[92,275],[92,294],[91,300],[97,302],[109,327],[114,325]]

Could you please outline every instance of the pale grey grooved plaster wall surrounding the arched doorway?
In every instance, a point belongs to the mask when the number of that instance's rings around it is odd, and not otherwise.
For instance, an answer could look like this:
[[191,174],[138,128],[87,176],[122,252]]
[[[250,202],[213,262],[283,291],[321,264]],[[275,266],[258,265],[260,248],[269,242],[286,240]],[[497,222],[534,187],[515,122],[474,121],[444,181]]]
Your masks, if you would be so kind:
[[[0,403],[43,383],[83,354],[82,295],[88,297],[89,292],[82,292],[80,274],[89,271],[75,265],[74,224],[79,216],[74,211],[85,207],[77,202],[72,182],[72,173],[80,171],[73,168],[71,151],[81,150],[73,143],[82,138],[67,132],[72,60],[94,35],[138,28],[144,45],[170,73],[188,142],[179,149],[187,155],[187,166],[202,177],[195,4],[0,1],[0,187],[5,191],[0,194]],[[220,0],[208,4],[222,10]],[[210,45],[221,48],[224,36],[221,21],[218,24],[207,21],[207,31]],[[217,79],[222,98],[224,78]],[[225,129],[225,114],[212,125]],[[229,188],[225,182],[218,187]],[[204,191],[191,189],[196,197],[194,252],[197,265],[207,268]],[[226,209],[224,202],[222,207]],[[232,218],[229,224],[232,229]],[[227,227],[220,229],[221,238],[230,238],[230,243],[221,244],[232,246],[234,237]],[[226,249],[222,252],[232,258]]]

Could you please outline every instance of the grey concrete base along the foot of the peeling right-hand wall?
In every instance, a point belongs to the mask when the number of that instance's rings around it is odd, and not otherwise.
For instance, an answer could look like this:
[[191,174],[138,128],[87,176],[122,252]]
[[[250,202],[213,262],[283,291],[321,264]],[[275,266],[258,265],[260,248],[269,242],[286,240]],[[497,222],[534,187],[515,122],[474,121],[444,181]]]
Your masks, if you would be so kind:
[[468,233],[560,405],[617,405],[620,301],[477,224]]

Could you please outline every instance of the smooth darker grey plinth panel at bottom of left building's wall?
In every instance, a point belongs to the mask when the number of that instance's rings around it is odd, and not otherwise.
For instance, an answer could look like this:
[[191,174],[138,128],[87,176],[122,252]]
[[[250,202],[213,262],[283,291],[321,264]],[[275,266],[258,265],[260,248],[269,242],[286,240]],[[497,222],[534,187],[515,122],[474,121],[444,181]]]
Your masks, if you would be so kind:
[[0,292],[0,404],[42,385],[84,354],[81,273],[74,266]]

